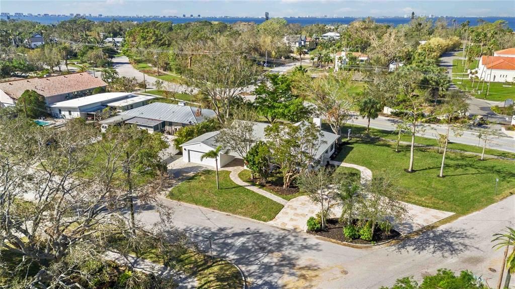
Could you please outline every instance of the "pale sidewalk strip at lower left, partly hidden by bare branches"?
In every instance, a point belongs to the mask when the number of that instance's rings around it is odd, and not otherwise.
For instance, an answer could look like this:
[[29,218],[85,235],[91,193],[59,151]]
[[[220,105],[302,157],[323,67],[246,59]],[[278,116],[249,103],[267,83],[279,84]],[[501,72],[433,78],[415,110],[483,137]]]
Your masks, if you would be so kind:
[[129,266],[134,270],[138,270],[144,273],[152,273],[163,278],[171,278],[179,285],[178,288],[180,289],[193,289],[198,287],[198,282],[195,277],[187,276],[183,272],[171,269],[170,267],[163,266],[161,264],[150,262],[146,259],[130,255],[123,256],[112,251],[106,252],[106,254],[104,254],[104,257],[118,264]]

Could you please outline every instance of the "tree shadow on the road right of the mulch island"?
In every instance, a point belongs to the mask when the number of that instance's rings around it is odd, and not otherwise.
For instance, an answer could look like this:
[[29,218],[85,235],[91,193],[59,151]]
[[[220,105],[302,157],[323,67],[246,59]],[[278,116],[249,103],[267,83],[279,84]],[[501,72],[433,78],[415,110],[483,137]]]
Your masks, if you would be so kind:
[[417,237],[406,237],[398,244],[393,245],[389,250],[402,252],[415,252],[417,254],[441,255],[445,258],[456,256],[473,246],[468,240],[476,237],[474,233],[465,229],[433,229],[422,232]]

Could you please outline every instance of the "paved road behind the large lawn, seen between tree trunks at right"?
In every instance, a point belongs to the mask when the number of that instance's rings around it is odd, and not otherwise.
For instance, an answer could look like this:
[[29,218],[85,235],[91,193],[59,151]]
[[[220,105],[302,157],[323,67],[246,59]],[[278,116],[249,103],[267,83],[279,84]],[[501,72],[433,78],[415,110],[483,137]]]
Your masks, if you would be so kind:
[[[395,130],[395,123],[398,121],[399,120],[397,119],[380,116],[376,119],[370,120],[370,127],[374,129],[393,131]],[[367,125],[367,120],[360,116],[355,116],[355,118],[349,123]],[[417,135],[427,138],[437,138],[437,133],[446,133],[445,126],[440,124],[430,124],[426,126],[425,131],[419,132]],[[465,145],[477,146],[479,141],[477,135],[478,132],[472,130],[465,131],[461,136],[456,136],[451,132],[450,140],[457,143],[464,143]],[[515,139],[509,136],[499,137],[490,142],[487,145],[487,148],[515,153]]]

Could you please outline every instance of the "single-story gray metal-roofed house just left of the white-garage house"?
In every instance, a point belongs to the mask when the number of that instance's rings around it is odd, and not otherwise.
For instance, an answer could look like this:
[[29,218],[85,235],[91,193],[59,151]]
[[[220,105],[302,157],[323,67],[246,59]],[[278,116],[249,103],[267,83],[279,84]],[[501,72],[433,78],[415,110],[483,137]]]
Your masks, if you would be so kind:
[[123,111],[117,116],[100,121],[103,130],[121,122],[136,125],[149,133],[165,132],[174,135],[178,130],[195,125],[215,116],[213,110],[193,106],[153,102],[135,109]]

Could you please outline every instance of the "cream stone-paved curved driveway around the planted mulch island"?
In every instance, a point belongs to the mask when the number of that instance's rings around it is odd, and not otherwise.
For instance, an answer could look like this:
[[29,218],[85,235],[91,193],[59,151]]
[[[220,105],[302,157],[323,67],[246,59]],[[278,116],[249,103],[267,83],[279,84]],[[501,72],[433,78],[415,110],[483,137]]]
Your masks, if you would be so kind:
[[[372,179],[372,171],[368,168],[334,160],[331,160],[330,164],[359,170],[361,172],[362,184]],[[401,203],[404,204],[408,211],[404,222],[394,226],[401,234],[409,234],[454,214],[452,212],[425,208],[404,202]],[[310,197],[299,196],[291,199],[276,215],[276,218],[268,223],[284,229],[305,231],[307,229],[307,219],[314,216],[318,211],[320,211],[319,205],[311,201]],[[331,218],[338,218],[341,215],[341,206],[336,205],[332,207],[331,211]]]

